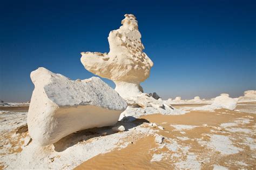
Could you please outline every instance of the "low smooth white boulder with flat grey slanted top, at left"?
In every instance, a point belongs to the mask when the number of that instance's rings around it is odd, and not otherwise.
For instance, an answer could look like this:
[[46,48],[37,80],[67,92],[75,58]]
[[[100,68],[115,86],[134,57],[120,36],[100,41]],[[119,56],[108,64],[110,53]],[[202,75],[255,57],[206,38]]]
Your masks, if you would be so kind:
[[70,80],[43,67],[32,71],[35,85],[28,113],[30,137],[45,146],[73,132],[111,126],[126,102],[97,77]]

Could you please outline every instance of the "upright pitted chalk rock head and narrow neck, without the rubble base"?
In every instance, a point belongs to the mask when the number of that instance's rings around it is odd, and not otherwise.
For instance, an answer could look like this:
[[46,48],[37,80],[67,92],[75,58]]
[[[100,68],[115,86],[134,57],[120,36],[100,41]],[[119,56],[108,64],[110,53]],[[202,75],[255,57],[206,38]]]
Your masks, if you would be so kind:
[[81,62],[86,70],[113,80],[115,90],[126,98],[143,93],[140,82],[149,77],[153,62],[143,52],[136,17],[126,14],[121,23],[109,33],[109,53],[82,52]]

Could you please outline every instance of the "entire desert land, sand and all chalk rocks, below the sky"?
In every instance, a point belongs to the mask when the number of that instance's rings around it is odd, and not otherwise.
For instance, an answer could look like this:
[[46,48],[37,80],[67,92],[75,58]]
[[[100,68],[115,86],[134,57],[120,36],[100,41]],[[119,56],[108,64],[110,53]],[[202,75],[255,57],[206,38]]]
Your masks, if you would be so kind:
[[39,67],[30,103],[0,104],[0,169],[255,169],[256,91],[164,100],[140,85],[153,61],[126,14],[108,53],[82,52],[99,77]]

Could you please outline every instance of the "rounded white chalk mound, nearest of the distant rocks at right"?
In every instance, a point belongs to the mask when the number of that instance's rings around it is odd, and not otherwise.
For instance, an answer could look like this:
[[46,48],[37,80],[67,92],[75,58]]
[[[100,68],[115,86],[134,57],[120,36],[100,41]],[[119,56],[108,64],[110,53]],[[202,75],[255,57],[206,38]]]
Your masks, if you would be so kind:
[[214,106],[218,106],[221,108],[227,108],[229,110],[234,110],[237,107],[238,99],[233,99],[228,97],[226,94],[221,94],[220,96],[216,97],[213,101]]

